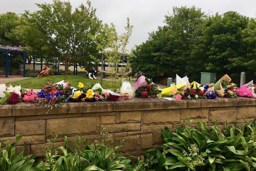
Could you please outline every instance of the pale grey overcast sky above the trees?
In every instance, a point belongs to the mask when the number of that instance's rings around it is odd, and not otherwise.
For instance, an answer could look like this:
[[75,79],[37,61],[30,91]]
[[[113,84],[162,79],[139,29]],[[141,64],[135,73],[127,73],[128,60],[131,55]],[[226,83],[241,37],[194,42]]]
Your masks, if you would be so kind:
[[[52,0],[0,0],[0,13],[24,13],[24,10],[34,12],[39,10],[35,3],[52,4]],[[86,0],[70,0],[72,7]],[[127,17],[133,25],[132,36],[127,49],[140,45],[148,40],[148,32],[156,31],[163,26],[165,15],[173,13],[173,7],[187,6],[201,8],[202,12],[211,15],[223,14],[227,11],[236,11],[241,15],[256,18],[256,0],[91,0],[91,6],[96,8],[97,17],[103,23],[113,23],[120,35],[126,26]]]

